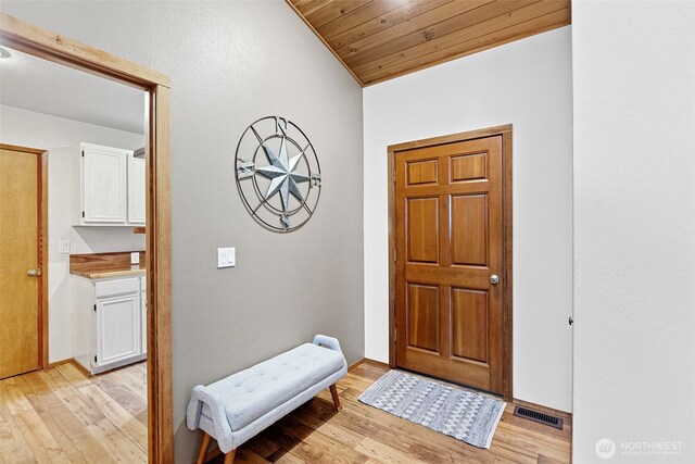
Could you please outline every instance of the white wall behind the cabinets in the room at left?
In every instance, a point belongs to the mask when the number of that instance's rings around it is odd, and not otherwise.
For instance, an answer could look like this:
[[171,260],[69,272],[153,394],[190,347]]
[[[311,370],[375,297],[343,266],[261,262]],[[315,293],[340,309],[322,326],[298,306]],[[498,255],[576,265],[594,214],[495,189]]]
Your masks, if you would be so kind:
[[49,362],[73,356],[70,255],[58,253],[58,241],[70,240],[73,254],[144,250],[144,236],[132,234],[131,227],[72,227],[75,179],[66,147],[80,141],[132,150],[144,145],[144,136],[0,105],[0,142],[49,150]]

